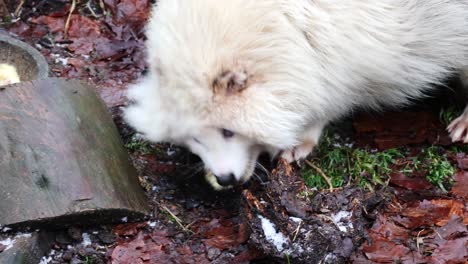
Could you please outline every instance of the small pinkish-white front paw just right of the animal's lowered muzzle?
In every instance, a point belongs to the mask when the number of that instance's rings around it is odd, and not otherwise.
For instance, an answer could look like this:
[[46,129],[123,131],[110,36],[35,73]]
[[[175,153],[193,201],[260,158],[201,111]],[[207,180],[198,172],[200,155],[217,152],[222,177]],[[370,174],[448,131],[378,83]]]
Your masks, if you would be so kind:
[[281,157],[288,162],[300,161],[307,158],[314,150],[322,135],[324,123],[316,124],[306,130],[302,137],[302,144],[284,150]]

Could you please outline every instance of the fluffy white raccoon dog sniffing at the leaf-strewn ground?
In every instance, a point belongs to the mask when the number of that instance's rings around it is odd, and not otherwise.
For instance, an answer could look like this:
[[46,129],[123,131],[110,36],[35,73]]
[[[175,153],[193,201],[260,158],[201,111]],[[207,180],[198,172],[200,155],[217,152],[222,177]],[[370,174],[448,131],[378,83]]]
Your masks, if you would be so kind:
[[[146,33],[125,119],[232,186],[261,152],[305,158],[356,106],[407,104],[468,64],[468,0],[160,0]],[[465,110],[448,130],[467,129]]]

